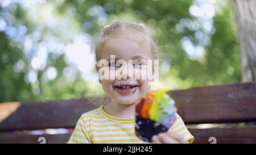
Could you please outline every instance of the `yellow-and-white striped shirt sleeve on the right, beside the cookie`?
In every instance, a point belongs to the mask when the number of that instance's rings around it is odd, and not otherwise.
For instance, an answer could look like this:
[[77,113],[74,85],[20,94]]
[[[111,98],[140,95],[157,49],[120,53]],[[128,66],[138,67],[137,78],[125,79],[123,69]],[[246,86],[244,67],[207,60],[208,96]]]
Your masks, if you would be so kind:
[[188,143],[190,144],[193,143],[194,136],[192,136],[191,133],[188,131],[181,117],[178,114],[176,114],[176,116],[177,117],[174,125],[172,125],[168,132],[178,133],[179,135],[184,137],[185,141],[188,141]]

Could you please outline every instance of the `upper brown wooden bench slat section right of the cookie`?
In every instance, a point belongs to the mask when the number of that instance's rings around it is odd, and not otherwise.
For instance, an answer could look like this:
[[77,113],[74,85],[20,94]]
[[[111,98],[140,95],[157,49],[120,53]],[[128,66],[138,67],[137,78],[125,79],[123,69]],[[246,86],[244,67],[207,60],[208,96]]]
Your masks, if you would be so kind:
[[256,82],[170,91],[187,124],[256,122]]

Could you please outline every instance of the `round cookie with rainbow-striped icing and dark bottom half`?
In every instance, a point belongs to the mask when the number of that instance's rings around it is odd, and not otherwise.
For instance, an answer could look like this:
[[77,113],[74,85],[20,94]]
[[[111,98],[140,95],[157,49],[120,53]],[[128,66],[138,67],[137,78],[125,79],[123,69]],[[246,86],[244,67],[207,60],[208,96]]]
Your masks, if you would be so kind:
[[176,119],[174,100],[167,94],[167,89],[150,91],[136,105],[136,135],[145,141],[161,132],[167,132]]

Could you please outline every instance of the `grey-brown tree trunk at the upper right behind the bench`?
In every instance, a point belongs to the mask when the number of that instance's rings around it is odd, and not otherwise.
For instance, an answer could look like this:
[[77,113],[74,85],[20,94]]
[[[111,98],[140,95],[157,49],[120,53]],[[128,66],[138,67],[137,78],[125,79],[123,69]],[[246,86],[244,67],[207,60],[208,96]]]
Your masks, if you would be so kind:
[[256,0],[233,0],[242,82],[256,81]]

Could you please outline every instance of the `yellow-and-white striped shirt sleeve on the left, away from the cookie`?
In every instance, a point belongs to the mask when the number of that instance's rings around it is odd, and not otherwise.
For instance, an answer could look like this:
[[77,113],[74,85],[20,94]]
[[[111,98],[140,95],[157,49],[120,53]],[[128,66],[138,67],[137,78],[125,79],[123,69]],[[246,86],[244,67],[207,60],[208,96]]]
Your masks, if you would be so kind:
[[90,136],[88,133],[88,129],[84,123],[84,119],[82,116],[76,123],[76,127],[68,141],[68,144],[90,144],[92,141],[90,140]]

